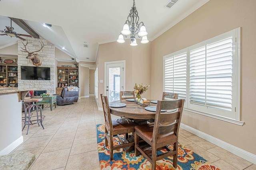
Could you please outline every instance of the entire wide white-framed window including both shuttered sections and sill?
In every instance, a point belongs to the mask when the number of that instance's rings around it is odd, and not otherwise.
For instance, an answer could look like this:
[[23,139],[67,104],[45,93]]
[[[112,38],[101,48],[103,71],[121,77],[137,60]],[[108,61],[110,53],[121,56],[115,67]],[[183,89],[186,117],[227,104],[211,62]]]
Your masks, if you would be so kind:
[[240,28],[164,56],[163,87],[185,110],[242,125]]

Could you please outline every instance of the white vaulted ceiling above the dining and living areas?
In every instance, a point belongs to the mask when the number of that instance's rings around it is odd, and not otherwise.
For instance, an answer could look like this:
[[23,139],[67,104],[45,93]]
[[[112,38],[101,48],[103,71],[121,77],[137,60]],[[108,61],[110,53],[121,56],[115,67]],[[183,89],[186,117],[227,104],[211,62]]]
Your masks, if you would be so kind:
[[[148,39],[152,41],[208,1],[178,0],[171,8],[166,7],[170,0],[135,0],[135,3]],[[98,45],[118,38],[132,3],[132,0],[1,0],[0,30],[10,26],[8,17],[22,19],[36,33],[70,55],[70,60],[95,62]],[[52,27],[44,27],[43,23]],[[28,34],[14,22],[12,27],[16,33]],[[18,40],[2,35],[0,49]]]

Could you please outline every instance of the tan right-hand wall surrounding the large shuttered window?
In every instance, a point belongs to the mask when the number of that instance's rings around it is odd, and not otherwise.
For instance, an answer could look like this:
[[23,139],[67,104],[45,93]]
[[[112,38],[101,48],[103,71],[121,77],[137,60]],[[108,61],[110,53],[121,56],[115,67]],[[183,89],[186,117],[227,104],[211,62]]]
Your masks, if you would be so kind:
[[241,27],[241,120],[234,125],[184,111],[182,123],[256,154],[256,1],[210,0],[152,41],[152,98],[162,95],[163,56]]

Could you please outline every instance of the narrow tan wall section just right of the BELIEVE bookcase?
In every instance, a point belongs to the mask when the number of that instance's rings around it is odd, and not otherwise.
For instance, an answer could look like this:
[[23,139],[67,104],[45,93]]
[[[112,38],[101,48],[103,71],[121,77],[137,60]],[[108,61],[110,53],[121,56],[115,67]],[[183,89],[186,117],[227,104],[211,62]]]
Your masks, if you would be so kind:
[[80,80],[80,84],[79,84],[81,97],[89,96],[89,82],[90,82],[89,68],[88,67],[80,67],[79,72],[82,75],[82,78],[80,76],[81,80]]

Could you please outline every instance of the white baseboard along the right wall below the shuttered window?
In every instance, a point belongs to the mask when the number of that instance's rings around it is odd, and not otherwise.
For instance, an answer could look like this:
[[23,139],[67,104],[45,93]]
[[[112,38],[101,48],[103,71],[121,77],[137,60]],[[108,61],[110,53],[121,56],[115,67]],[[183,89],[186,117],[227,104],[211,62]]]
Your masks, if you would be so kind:
[[213,143],[217,145],[218,147],[221,147],[225,150],[228,150],[229,152],[249,161],[253,164],[256,164],[256,155],[252,154],[246,150],[240,149],[238,147],[235,147],[233,145],[230,145],[229,143],[226,143],[224,141],[221,141],[220,139],[216,137],[212,137],[204,132],[198,131],[197,129],[194,129],[188,125],[185,125],[183,123],[180,123],[180,127],[190,133],[193,133],[194,135],[201,137],[202,139],[205,139],[206,141],[209,141],[210,143]]

